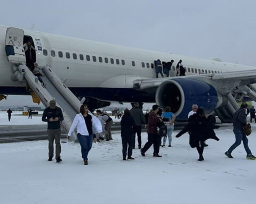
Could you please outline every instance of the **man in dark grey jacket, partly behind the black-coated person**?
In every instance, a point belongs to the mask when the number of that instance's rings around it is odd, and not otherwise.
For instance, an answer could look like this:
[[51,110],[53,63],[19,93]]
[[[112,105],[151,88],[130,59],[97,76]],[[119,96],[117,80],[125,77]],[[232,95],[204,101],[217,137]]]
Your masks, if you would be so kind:
[[139,103],[134,103],[133,108],[131,109],[131,116],[135,121],[135,128],[134,128],[134,140],[133,140],[133,149],[135,149],[135,138],[136,133],[138,136],[138,147],[141,149],[141,125],[146,124],[145,116],[143,115],[142,109],[140,108]]

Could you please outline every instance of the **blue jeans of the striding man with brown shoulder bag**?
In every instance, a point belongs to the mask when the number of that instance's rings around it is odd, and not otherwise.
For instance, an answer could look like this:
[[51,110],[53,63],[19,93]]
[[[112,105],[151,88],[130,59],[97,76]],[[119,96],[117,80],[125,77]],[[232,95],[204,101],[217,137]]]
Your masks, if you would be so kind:
[[243,131],[241,129],[234,129],[233,132],[235,133],[235,137],[236,137],[236,141],[235,143],[228,149],[228,153],[231,154],[231,152],[236,148],[238,147],[242,140],[243,140],[243,143],[244,143],[244,149],[247,153],[247,155],[251,155],[252,152],[251,150],[249,149],[248,147],[248,139],[246,137],[246,135],[243,133]]

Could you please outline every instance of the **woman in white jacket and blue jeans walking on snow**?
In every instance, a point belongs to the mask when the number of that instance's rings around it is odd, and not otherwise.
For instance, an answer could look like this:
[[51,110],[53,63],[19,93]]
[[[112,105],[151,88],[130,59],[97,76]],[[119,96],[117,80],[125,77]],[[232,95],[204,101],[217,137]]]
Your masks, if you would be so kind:
[[[89,113],[88,107],[82,105],[80,107],[80,113],[76,115],[71,128],[68,132],[68,139],[71,133],[77,128],[77,139],[81,145],[82,158],[84,159],[84,165],[88,165],[88,153],[92,148],[93,135],[102,132],[102,126],[97,117]],[[94,142],[96,142],[96,137]]]

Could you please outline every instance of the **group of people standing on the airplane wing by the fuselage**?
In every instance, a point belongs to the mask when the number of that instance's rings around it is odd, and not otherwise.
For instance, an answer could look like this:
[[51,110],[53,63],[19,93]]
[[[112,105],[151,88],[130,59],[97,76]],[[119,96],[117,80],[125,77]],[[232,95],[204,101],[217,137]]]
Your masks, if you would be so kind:
[[[161,60],[154,61],[155,63],[155,70],[156,70],[156,78],[158,78],[158,75],[161,74],[161,77],[164,78],[164,74],[166,77],[170,77],[170,70],[172,69],[172,64],[174,63],[174,60],[171,60],[170,62],[161,62]],[[182,65],[182,60],[178,62],[176,65],[176,77],[179,76],[185,76],[186,69]]]

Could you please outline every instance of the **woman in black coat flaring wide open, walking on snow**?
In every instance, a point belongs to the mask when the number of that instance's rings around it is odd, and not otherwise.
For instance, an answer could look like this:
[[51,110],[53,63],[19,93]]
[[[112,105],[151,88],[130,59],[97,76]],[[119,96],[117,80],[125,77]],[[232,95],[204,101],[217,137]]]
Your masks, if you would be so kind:
[[188,124],[176,137],[179,138],[182,134],[189,132],[189,145],[192,148],[196,147],[199,154],[198,161],[203,161],[204,141],[207,139],[219,140],[215,135],[214,128],[218,128],[215,126],[215,117],[210,115],[206,118],[204,109],[198,108],[196,114],[189,117]]

